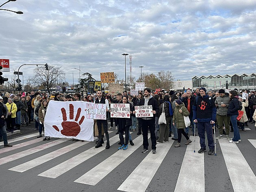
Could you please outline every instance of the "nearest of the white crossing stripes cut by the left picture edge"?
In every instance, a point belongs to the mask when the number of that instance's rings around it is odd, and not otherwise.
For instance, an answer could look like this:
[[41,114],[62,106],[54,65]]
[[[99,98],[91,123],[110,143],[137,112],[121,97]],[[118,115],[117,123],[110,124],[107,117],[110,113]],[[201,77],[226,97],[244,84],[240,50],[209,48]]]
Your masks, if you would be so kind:
[[69,139],[66,139],[66,138],[58,139],[58,140],[55,140],[55,141],[52,141],[52,142],[48,142],[46,144],[34,147],[32,149],[28,149],[26,151],[21,151],[19,153],[15,153],[13,155],[9,155],[7,157],[3,157],[3,158],[0,159],[0,165],[8,163],[8,162],[11,162],[13,160],[20,159],[20,158],[25,157],[27,155],[31,155],[31,154],[36,153],[38,151],[42,151],[43,149],[47,149],[47,148],[52,147],[54,145],[58,145],[58,144],[63,143],[65,141],[67,141],[67,140],[69,140]]

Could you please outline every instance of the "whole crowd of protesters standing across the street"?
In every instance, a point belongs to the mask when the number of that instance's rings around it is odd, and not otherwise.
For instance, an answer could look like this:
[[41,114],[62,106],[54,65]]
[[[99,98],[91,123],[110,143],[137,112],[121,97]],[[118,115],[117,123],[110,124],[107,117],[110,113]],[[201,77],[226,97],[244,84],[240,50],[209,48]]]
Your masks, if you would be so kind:
[[[248,98],[242,99],[242,93],[248,93]],[[111,95],[103,91],[97,91],[93,94],[75,93],[74,95],[65,95],[63,93],[41,93],[41,91],[31,91],[31,93],[19,92],[17,95],[5,93],[0,97],[0,139],[4,140],[4,147],[11,147],[7,142],[7,132],[13,133],[19,130],[21,126],[29,126],[31,121],[35,121],[35,130],[39,130],[39,136],[42,137],[44,117],[47,112],[48,103],[54,101],[87,101],[95,103],[107,104],[106,120],[97,120],[97,125],[103,125],[106,134],[106,149],[109,149],[108,130],[113,129],[115,123],[116,134],[119,134],[121,147],[118,149],[126,150],[128,148],[128,140],[130,145],[134,145],[129,131],[136,131],[138,122],[137,135],[143,134],[143,153],[148,151],[148,130],[150,130],[150,138],[152,145],[152,153],[156,153],[156,144],[168,142],[169,138],[176,140],[175,147],[180,147],[182,134],[187,139],[185,145],[189,145],[189,129],[192,135],[195,134],[195,127],[200,137],[201,149],[198,153],[206,151],[205,131],[208,139],[209,155],[213,155],[213,133],[215,126],[219,129],[219,136],[216,139],[222,139],[223,135],[229,142],[239,143],[241,137],[239,128],[245,132],[248,123],[255,123],[256,120],[256,94],[254,91],[237,90],[225,93],[223,89],[215,91],[206,91],[206,88],[197,88],[195,92],[186,90],[186,92],[152,92],[149,88],[139,91],[138,95],[130,95],[129,92]],[[239,105],[241,102],[243,112],[239,121]],[[130,118],[122,121],[121,118],[112,118],[110,116],[111,103],[130,104]],[[152,105],[153,117],[135,117],[135,106]],[[162,113],[165,113],[165,123],[158,123]],[[189,117],[190,125],[184,123],[184,116]],[[111,125],[107,128],[107,120]],[[123,119],[124,120],[124,119]],[[195,126],[196,125],[196,126]],[[102,133],[99,129],[99,139],[95,148],[102,147]],[[234,137],[230,138],[229,133],[234,132]],[[124,135],[126,139],[124,140]],[[128,139],[129,138],[129,139]],[[43,140],[50,140],[50,137],[44,137]],[[104,143],[104,142],[103,142]]]

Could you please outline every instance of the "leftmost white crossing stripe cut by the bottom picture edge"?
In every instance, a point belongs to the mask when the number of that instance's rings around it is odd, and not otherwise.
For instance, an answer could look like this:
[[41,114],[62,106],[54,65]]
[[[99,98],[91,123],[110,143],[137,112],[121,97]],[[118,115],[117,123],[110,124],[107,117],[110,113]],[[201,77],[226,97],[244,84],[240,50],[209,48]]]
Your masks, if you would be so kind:
[[[117,190],[126,192],[145,192],[173,142],[173,140],[169,140],[169,142],[156,145],[157,153],[152,154],[150,151]],[[143,154],[141,153],[141,155]]]

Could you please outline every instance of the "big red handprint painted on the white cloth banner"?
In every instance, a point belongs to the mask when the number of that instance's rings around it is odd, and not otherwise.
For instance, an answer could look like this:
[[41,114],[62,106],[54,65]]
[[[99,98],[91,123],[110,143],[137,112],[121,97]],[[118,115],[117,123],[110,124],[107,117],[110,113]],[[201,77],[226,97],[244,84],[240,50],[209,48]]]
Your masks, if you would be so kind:
[[[61,134],[65,135],[65,136],[77,136],[80,133],[80,125],[82,124],[82,122],[85,119],[85,116],[82,116],[79,123],[77,123],[76,121],[78,121],[80,114],[81,114],[81,108],[77,109],[77,113],[76,113],[76,118],[75,121],[67,121],[67,113],[65,108],[61,108],[61,113],[62,113],[62,119],[63,122],[61,123],[62,126],[62,130],[61,130]],[[69,119],[72,120],[74,119],[74,106],[72,104],[69,104]],[[52,125],[52,127],[56,130],[56,131],[60,131],[59,128],[56,125]]]

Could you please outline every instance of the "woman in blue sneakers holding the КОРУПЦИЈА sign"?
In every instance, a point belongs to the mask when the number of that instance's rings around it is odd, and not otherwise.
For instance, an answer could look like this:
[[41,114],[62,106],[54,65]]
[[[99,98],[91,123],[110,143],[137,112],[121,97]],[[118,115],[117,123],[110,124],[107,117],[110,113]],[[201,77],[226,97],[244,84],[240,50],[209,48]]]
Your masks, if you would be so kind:
[[[123,96],[122,101],[123,101],[123,104],[130,104],[128,102],[127,95]],[[132,106],[132,104],[130,104],[130,114],[131,115],[133,115],[132,114],[132,109],[133,109],[133,106]],[[129,118],[117,118],[116,119],[116,122],[117,122],[117,125],[118,125],[119,139],[120,139],[120,142],[121,142],[121,147],[119,147],[118,150],[121,150],[121,149],[126,150],[126,149],[128,149],[129,128],[132,125],[132,119],[130,117],[131,116],[129,116]],[[125,134],[125,143],[124,143],[123,133]]]

